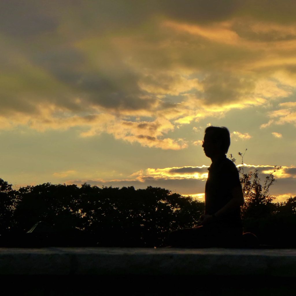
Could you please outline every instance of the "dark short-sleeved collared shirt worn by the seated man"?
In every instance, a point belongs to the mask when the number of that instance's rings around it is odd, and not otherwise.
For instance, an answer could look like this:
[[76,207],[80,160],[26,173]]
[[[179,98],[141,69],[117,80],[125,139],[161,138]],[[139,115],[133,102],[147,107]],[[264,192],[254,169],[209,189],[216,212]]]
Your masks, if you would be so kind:
[[[213,215],[231,199],[231,190],[241,186],[235,164],[225,157],[212,163],[205,184],[205,214]],[[240,207],[238,206],[225,217],[219,218],[219,224],[227,227],[242,227]]]

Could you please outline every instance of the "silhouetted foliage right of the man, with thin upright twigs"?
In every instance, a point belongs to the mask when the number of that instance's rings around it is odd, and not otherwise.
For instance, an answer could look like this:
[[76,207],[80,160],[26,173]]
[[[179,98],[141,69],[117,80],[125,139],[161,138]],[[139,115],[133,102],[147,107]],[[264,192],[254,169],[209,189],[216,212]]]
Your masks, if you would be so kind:
[[[262,181],[258,169],[244,171],[245,152],[238,153],[242,160],[239,174],[245,201],[242,207],[244,231],[256,234],[261,244],[295,246],[292,233],[296,227],[296,197],[276,203],[275,197],[269,194],[271,185],[276,182],[274,173],[281,167],[274,166],[273,171]],[[232,155],[230,157],[236,161]]]

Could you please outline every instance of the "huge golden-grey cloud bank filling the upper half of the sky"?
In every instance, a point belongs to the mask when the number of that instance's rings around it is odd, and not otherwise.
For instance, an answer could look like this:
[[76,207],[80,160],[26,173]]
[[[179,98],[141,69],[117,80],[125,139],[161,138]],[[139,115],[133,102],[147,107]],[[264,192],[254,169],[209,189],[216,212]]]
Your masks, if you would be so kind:
[[[75,127],[179,150],[180,126],[292,96],[292,1],[152,2],[5,2],[0,128]],[[295,104],[278,106],[261,128],[296,125]]]

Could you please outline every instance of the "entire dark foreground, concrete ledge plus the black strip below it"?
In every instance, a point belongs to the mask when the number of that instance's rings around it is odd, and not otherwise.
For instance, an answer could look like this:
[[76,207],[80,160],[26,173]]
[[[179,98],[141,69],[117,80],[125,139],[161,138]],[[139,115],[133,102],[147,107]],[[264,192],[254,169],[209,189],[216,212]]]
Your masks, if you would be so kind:
[[1,248],[6,295],[294,295],[293,249]]

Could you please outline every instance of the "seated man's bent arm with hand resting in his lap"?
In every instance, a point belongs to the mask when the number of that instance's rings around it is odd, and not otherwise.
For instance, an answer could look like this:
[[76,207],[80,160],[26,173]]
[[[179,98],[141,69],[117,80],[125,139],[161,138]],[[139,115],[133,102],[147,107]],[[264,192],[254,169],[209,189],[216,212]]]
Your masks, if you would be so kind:
[[214,215],[201,215],[198,221],[199,225],[205,225],[215,220],[219,220],[222,217],[227,216],[233,210],[237,209],[244,204],[244,195],[242,193],[242,187],[237,186],[231,190],[232,199],[227,202],[227,204],[218,210]]

